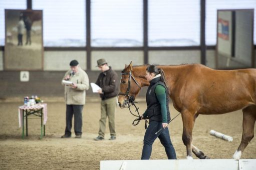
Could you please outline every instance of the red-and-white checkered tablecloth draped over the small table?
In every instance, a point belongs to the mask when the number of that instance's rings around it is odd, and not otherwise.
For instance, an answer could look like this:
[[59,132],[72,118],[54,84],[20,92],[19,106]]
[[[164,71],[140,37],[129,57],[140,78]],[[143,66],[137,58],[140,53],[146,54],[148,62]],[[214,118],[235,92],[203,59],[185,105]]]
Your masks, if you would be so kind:
[[31,105],[31,106],[27,106],[27,105],[22,105],[19,106],[19,127],[21,127],[23,125],[23,118],[22,118],[22,112],[23,110],[39,110],[43,108],[43,114],[44,114],[44,124],[46,124],[47,121],[47,103],[38,103],[35,105]]

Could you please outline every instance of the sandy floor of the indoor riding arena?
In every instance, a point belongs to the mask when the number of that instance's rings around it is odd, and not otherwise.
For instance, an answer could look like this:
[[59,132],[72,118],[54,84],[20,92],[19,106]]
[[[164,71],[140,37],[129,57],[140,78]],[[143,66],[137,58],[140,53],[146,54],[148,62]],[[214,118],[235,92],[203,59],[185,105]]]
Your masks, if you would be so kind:
[[[110,141],[107,126],[105,140],[94,141],[98,134],[100,104],[87,102],[83,110],[82,138],[60,138],[65,129],[65,103],[48,103],[46,136],[40,140],[40,119],[29,119],[29,136],[21,138],[18,123],[18,102],[0,103],[0,169],[99,169],[100,160],[140,159],[143,146],[144,121],[133,126],[136,117],[127,108],[117,108],[117,139]],[[146,108],[138,104],[139,111]],[[171,116],[178,112],[170,104]],[[169,125],[177,158],[186,158],[183,145],[182,120],[179,115]],[[216,131],[233,136],[228,142],[209,134]],[[254,129],[254,133],[256,130]],[[231,158],[238,147],[242,134],[241,110],[222,115],[199,115],[193,130],[193,144],[210,158]],[[256,158],[256,139],[253,138],[241,158]],[[197,158],[196,156],[193,156]],[[157,139],[153,144],[151,159],[166,159],[164,147]]]

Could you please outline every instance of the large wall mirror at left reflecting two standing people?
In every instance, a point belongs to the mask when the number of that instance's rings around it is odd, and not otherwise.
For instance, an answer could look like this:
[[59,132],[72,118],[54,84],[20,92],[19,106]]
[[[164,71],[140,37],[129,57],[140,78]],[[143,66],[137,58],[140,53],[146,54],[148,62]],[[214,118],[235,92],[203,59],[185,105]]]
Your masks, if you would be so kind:
[[5,9],[5,70],[43,69],[43,10]]

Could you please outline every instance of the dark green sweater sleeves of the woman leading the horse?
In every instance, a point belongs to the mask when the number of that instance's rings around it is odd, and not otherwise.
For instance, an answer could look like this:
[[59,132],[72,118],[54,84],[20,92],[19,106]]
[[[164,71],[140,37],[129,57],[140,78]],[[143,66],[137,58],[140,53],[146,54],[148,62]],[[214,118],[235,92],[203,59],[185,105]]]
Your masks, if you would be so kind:
[[[166,89],[163,85],[157,85],[155,88],[156,97],[161,105],[162,122],[167,123],[167,108],[166,108]],[[147,112],[143,113],[143,117],[147,117]]]

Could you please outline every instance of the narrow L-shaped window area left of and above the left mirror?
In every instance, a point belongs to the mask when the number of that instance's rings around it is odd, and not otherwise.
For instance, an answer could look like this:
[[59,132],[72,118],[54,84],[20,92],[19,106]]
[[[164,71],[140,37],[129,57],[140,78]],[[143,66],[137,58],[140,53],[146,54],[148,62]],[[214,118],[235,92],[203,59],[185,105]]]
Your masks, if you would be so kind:
[[5,9],[26,9],[27,0],[0,0],[0,45],[5,45]]

